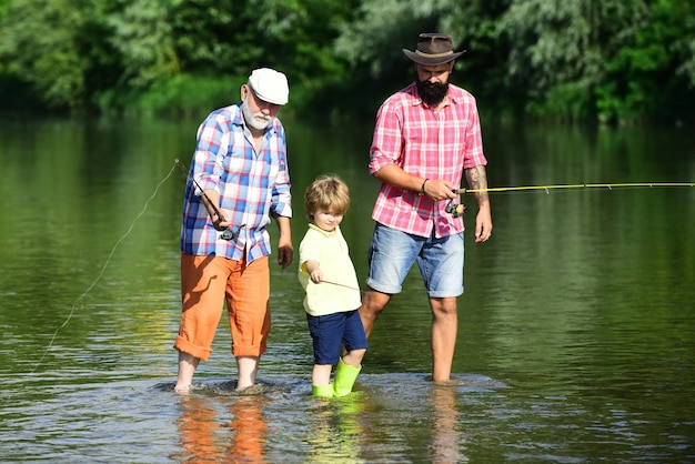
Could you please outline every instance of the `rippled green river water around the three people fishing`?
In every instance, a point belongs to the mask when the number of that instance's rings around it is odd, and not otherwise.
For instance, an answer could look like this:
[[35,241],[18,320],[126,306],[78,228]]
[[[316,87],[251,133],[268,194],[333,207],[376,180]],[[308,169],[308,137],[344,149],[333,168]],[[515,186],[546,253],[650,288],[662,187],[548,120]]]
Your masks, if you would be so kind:
[[[312,399],[296,270],[273,264],[259,387],[233,391],[223,317],[195,390],[174,394],[185,182],[174,160],[189,163],[198,123],[0,121],[3,462],[695,462],[693,188],[492,194],[493,239],[466,235],[451,384],[427,381],[414,271],[356,392]],[[364,282],[371,122],[285,127],[295,249],[304,188],[338,173]],[[688,128],[483,129],[491,186],[695,180]]]

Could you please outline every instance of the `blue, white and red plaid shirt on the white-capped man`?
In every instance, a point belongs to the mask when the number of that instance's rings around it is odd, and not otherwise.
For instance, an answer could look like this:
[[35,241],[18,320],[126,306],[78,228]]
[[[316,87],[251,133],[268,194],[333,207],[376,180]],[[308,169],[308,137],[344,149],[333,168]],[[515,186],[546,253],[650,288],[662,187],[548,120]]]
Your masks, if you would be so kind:
[[234,240],[220,239],[201,191],[189,180],[183,205],[181,251],[187,254],[244,258],[248,263],[271,253],[265,226],[271,215],[292,216],[290,172],[284,128],[280,120],[265,130],[256,153],[241,103],[213,111],[198,129],[190,173],[203,190],[220,194],[220,208],[239,230]]

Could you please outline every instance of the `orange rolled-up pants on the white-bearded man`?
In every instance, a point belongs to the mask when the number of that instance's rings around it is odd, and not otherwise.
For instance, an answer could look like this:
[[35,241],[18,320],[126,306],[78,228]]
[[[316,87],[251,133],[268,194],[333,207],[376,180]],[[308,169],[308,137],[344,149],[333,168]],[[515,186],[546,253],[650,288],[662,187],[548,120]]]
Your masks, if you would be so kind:
[[269,258],[181,255],[181,323],[174,349],[208,361],[226,300],[232,353],[260,356],[270,333]]

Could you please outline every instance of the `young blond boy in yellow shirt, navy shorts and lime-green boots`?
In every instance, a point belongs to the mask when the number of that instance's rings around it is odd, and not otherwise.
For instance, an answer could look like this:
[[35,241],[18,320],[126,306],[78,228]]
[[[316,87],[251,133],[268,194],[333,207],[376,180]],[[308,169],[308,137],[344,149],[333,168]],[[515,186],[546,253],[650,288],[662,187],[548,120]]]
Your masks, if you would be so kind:
[[[357,275],[340,230],[350,208],[348,185],[335,175],[320,175],[306,188],[304,208],[310,224],[300,244],[299,279],[306,291],[304,310],[314,347],[312,393],[345,396],[357,379],[367,347],[357,312]],[[338,367],[331,383],[333,364]]]

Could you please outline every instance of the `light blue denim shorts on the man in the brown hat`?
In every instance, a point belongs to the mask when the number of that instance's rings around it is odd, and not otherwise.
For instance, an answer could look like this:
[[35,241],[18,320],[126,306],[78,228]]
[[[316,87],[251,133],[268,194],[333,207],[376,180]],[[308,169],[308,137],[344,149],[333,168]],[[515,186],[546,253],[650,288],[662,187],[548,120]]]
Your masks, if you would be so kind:
[[424,238],[377,222],[369,250],[366,284],[377,292],[400,293],[413,262],[430,297],[463,294],[463,233]]

